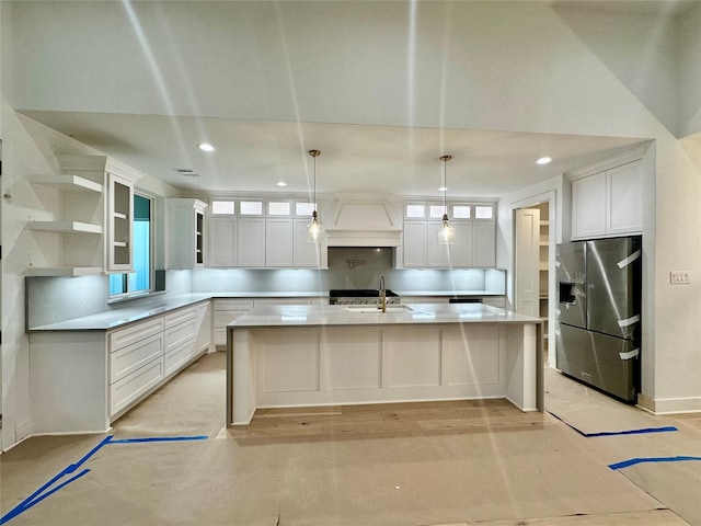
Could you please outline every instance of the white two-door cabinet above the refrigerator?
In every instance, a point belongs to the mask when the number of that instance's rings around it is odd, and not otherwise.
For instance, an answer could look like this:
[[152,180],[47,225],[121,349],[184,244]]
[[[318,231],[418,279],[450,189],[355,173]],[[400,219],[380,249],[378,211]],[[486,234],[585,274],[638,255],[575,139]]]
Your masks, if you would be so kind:
[[572,182],[572,238],[641,233],[643,165],[629,162]]

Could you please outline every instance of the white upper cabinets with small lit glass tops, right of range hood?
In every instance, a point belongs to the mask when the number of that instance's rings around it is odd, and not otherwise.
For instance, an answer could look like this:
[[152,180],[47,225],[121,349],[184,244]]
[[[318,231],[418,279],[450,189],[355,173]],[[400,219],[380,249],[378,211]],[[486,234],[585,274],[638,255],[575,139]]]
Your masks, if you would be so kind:
[[443,205],[410,203],[404,207],[404,236],[397,266],[404,268],[493,267],[496,265],[496,206],[451,203],[451,245],[438,244]]

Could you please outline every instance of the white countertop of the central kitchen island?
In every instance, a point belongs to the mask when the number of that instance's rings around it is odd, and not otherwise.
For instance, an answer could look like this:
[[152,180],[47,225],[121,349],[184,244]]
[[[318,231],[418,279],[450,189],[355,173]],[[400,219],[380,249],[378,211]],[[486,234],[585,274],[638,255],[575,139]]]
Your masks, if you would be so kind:
[[237,318],[230,329],[291,325],[379,325],[416,323],[541,323],[524,316],[482,304],[414,304],[388,306],[315,305],[256,307]]

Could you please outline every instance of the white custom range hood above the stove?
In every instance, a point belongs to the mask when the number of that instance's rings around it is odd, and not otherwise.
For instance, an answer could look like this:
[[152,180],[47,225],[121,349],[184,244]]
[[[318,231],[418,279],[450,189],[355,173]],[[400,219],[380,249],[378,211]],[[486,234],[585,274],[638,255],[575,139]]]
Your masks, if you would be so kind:
[[329,247],[400,244],[402,210],[390,201],[377,196],[337,196],[325,217]]

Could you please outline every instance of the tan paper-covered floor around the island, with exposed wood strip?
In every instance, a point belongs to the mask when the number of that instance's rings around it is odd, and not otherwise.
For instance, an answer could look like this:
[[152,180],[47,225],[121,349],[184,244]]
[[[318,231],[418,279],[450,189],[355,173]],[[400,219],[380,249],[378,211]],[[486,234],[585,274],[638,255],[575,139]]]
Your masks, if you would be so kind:
[[[589,439],[499,399],[268,409],[226,428],[223,367],[216,353],[179,375],[115,423],[122,443],[90,457],[83,477],[9,524],[701,525],[701,462],[666,474],[608,467],[696,453],[692,416],[674,436]],[[192,435],[204,439],[180,441]],[[0,516],[104,439],[36,437],[2,455]]]

